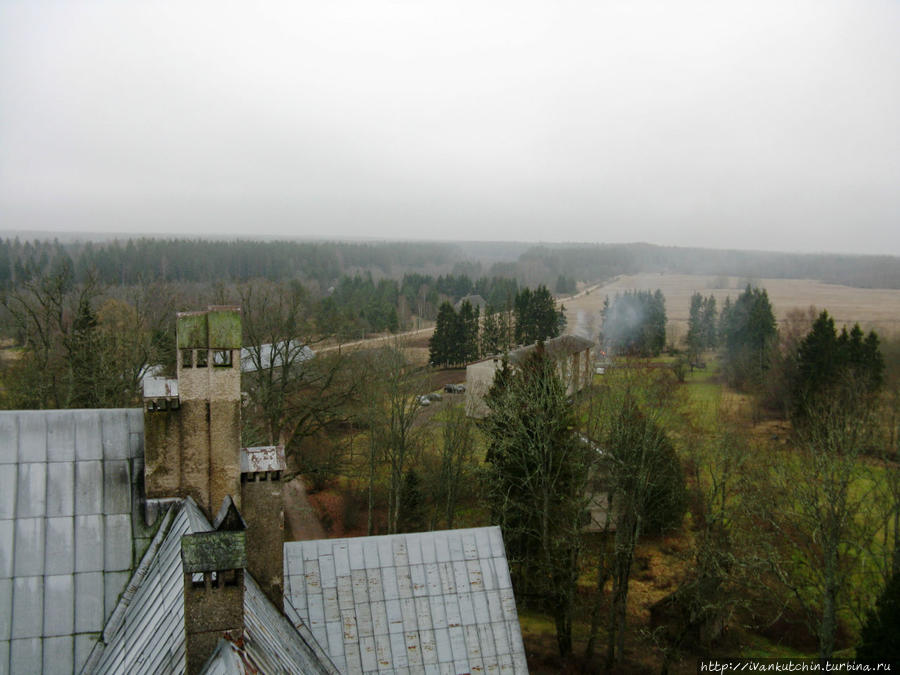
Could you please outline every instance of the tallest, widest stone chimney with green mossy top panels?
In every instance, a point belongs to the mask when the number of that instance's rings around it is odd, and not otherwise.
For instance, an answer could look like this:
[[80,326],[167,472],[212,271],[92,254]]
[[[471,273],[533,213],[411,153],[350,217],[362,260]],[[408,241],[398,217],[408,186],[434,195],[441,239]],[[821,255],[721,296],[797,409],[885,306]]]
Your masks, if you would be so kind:
[[176,337],[178,379],[144,385],[144,485],[211,518],[226,496],[240,505],[240,308],[179,313]]

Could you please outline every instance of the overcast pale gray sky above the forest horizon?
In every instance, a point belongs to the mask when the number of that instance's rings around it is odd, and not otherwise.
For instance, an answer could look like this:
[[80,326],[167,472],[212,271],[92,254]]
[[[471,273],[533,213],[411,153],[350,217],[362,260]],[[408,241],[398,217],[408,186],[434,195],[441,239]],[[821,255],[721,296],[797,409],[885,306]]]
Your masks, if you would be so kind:
[[0,230],[900,254],[900,2],[0,0]]

